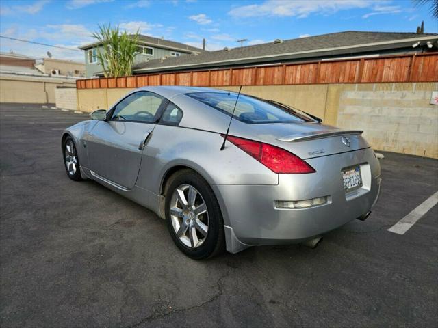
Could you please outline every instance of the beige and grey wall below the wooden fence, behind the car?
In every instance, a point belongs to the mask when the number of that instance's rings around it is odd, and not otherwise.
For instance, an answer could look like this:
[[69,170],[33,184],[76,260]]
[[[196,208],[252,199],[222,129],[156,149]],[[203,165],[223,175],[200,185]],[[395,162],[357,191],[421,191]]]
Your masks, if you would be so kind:
[[[239,87],[220,87],[237,91]],[[78,109],[109,109],[132,89],[79,89]],[[324,124],[365,131],[376,150],[438,158],[438,106],[429,105],[438,83],[250,85],[242,92],[284,102]]]

